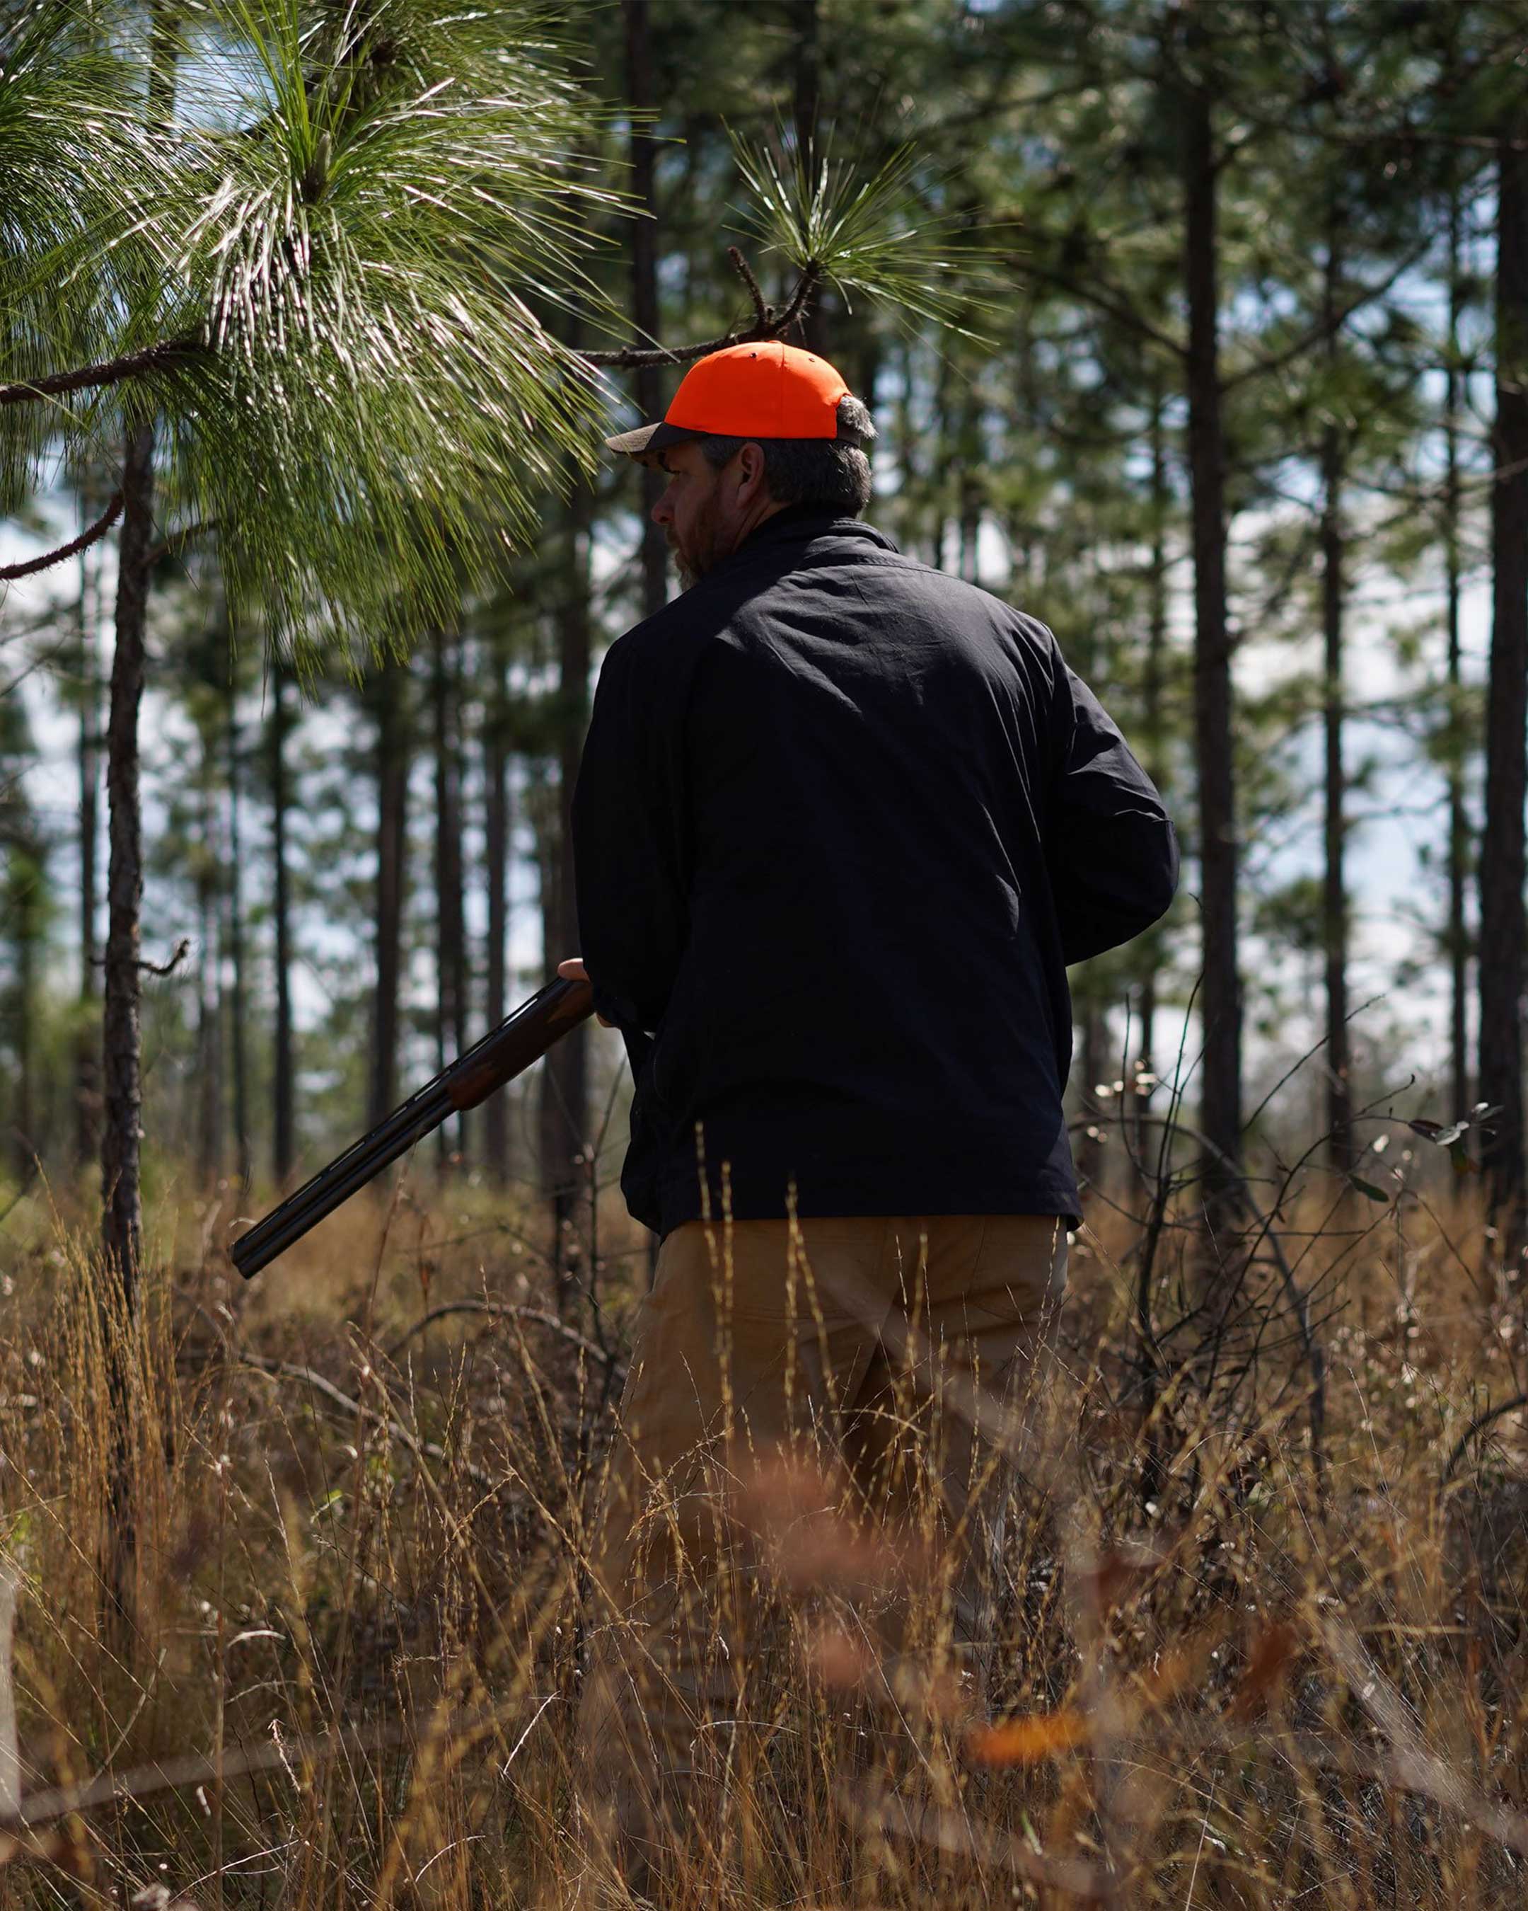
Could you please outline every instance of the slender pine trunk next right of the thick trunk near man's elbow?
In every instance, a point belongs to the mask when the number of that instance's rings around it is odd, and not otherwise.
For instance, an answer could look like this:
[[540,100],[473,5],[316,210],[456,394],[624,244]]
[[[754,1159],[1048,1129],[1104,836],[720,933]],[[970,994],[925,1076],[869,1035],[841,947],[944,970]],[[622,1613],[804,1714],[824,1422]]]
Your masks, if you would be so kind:
[[[1337,359],[1337,310],[1341,256],[1327,237],[1322,281],[1322,323],[1327,367]],[[1327,403],[1335,405],[1335,392]],[[1322,871],[1322,933],[1326,948],[1326,1133],[1327,1160],[1343,1173],[1352,1168],[1352,1051],[1348,1041],[1348,892],[1343,871],[1347,848],[1347,778],[1343,772],[1343,478],[1347,443],[1343,426],[1329,419],[1322,428],[1322,738],[1326,745],[1326,864]]]

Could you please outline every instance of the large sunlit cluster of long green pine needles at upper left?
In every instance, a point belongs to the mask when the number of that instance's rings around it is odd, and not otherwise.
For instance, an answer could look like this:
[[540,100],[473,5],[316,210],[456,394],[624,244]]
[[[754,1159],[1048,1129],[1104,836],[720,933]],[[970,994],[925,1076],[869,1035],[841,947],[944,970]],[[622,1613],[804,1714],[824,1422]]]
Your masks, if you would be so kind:
[[[73,4],[34,11],[27,75]],[[97,21],[134,23],[130,6]],[[69,63],[76,90],[115,103],[96,122],[118,189],[97,191],[97,164],[63,138],[34,161],[59,214],[17,220],[0,310],[15,334],[63,281],[74,352],[183,340],[149,378],[76,401],[71,428],[109,440],[122,409],[162,411],[174,491],[216,522],[229,592],[273,638],[401,644],[447,613],[460,564],[525,537],[539,493],[588,457],[598,394],[548,325],[592,302],[588,222],[615,204],[581,157],[588,96],[533,0],[201,0],[176,63],[216,90],[141,120],[120,107],[126,52]],[[32,115],[46,103],[38,78]],[[10,176],[29,149],[4,138]],[[36,438],[23,422],[13,457]]]

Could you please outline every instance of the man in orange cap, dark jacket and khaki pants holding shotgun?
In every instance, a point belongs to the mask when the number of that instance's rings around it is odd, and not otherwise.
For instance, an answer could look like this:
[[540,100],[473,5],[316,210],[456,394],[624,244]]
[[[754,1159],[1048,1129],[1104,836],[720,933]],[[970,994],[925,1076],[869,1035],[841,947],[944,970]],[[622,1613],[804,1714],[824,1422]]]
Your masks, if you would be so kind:
[[802,1429],[869,1517],[911,1517],[877,1416],[909,1382],[947,1399],[924,1424],[951,1643],[982,1645],[1003,1468],[980,1403],[1014,1399],[1077,1213],[1066,965],[1177,885],[1161,799],[1050,633],[860,522],[873,438],[831,365],[775,342],[701,359],[609,440],[667,472],[688,587],[600,673],[563,965],[626,1040],[623,1189],[663,1236],[583,1701],[626,1854],[722,1756],[751,1645],[691,1596],[745,1557],[743,1473]]

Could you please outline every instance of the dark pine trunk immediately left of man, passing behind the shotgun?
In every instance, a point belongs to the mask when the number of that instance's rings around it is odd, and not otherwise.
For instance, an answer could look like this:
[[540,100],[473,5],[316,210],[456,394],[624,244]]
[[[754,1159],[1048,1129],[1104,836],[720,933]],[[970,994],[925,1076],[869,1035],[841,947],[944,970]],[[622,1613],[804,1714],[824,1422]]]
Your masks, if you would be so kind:
[[[579,950],[573,887],[573,784],[588,726],[590,608],[588,524],[592,493],[581,483],[567,505],[565,573],[558,604],[558,827],[546,900],[546,978],[563,956]],[[571,1303],[577,1265],[577,1215],[588,1175],[583,1160],[588,1129],[588,1026],[575,1028],[548,1053],[541,1091],[542,1191],[552,1204],[558,1303]]]

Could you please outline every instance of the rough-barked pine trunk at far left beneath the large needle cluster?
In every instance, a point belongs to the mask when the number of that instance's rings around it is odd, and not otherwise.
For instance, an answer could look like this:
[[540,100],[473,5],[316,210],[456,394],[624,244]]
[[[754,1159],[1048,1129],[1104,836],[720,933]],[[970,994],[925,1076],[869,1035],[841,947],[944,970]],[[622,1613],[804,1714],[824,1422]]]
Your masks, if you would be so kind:
[[138,795],[138,711],[143,701],[143,640],[153,545],[155,428],[134,424],[122,462],[122,537],[117,556],[117,644],[107,717],[107,961],[101,1009],[101,1248],[122,1311],[138,1305],[143,1259],[139,1143],[143,1084],[139,1051],[139,929],[143,904],[143,816]]

